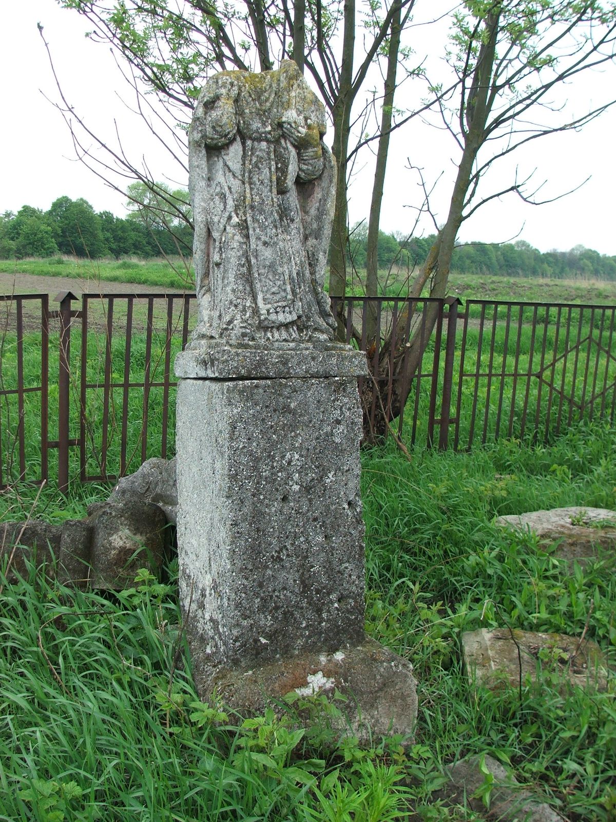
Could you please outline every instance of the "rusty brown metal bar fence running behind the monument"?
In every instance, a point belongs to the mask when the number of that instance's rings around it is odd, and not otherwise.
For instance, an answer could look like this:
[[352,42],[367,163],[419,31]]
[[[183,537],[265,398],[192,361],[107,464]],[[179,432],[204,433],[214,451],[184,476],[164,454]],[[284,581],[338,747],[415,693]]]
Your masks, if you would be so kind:
[[[0,295],[0,487],[66,490],[172,455],[172,363],[195,294],[76,302]],[[468,449],[547,439],[582,418],[614,424],[616,307],[468,300],[462,311],[457,299],[353,297],[332,307],[370,362],[359,381],[366,425],[379,432],[387,420],[382,432],[408,445]]]

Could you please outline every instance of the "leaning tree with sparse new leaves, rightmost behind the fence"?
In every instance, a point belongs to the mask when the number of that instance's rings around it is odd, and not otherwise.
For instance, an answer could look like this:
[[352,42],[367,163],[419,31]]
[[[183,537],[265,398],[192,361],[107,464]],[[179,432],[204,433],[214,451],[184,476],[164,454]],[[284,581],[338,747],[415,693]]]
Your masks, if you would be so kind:
[[[465,5],[467,12],[455,17],[449,59],[459,85],[439,100],[441,126],[459,152],[457,174],[447,219],[442,226],[435,225],[434,243],[411,285],[411,297],[419,297],[426,285],[430,297],[446,296],[457,233],[482,205],[510,193],[540,204],[540,187],[531,188],[532,173],[522,178],[516,173],[505,187],[487,189],[489,173],[499,160],[540,137],[577,130],[616,102],[607,99],[571,115],[557,99],[566,84],[582,76],[591,81],[594,69],[614,62],[614,2],[467,0]],[[423,180],[422,185],[429,201]],[[393,360],[397,379],[391,405],[381,418],[383,397],[379,402],[374,396],[368,398],[377,408],[374,430],[365,432],[368,439],[382,436],[406,403],[410,376],[421,363],[437,308],[427,307],[426,312],[410,342],[402,336],[409,327],[408,316],[398,318],[398,332],[383,341],[379,372],[387,373]],[[376,381],[370,390],[379,391]]]

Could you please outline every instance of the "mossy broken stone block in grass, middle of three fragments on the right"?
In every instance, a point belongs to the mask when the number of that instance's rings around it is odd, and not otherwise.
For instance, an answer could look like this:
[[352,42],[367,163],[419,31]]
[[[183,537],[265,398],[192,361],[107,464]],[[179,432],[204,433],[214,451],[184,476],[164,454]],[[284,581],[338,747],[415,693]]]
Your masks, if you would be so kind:
[[582,688],[605,690],[608,668],[599,646],[564,634],[527,630],[469,630],[462,634],[462,654],[468,676],[492,690],[537,681],[537,672],[558,674]]

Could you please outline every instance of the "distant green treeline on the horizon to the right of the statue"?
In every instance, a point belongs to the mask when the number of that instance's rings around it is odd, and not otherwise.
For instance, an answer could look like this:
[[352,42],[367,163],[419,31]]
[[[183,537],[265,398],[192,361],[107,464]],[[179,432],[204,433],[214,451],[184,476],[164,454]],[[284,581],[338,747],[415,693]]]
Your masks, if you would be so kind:
[[[363,226],[352,233],[348,261],[356,269],[365,269],[365,231]],[[435,240],[405,240],[399,233],[379,232],[379,269],[419,269]],[[505,242],[471,242],[453,252],[452,270],[459,274],[508,277],[544,277],[554,279],[616,280],[616,256],[607,256],[591,248],[575,246],[568,252],[540,252],[525,240]]]

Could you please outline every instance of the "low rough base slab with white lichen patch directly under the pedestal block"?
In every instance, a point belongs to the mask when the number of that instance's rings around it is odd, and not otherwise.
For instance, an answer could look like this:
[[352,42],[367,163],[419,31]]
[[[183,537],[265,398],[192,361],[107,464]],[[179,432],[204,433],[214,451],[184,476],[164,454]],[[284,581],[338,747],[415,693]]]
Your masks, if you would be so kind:
[[[193,676],[201,700],[215,695],[242,716],[279,708],[289,694],[331,699],[338,690],[347,700],[335,703],[342,718],[338,722],[334,718],[334,730],[341,736],[357,737],[363,745],[393,734],[408,737],[417,718],[411,663],[375,640],[365,639],[334,653],[304,652],[257,667],[219,667],[214,671],[207,663],[201,664],[197,650]],[[296,703],[296,707],[301,709],[301,704]]]

